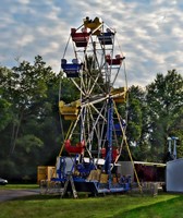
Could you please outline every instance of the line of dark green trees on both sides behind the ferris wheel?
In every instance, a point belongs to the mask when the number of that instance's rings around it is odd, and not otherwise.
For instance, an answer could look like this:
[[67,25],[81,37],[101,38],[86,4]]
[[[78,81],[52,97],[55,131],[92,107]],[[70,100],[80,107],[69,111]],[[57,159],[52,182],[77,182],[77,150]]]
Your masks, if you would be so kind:
[[[0,66],[0,175],[36,180],[37,166],[54,166],[63,142],[58,109],[77,93],[70,80],[56,74],[40,56]],[[176,70],[157,73],[146,87],[129,87],[126,136],[134,160],[166,162],[168,136],[176,136],[183,157],[183,76]],[[62,123],[68,125],[66,121]],[[127,160],[124,146],[121,160]]]

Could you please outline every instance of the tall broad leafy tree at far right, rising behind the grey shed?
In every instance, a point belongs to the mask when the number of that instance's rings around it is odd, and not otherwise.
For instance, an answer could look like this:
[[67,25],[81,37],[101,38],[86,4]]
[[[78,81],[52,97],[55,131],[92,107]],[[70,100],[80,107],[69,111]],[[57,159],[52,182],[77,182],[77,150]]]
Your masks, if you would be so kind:
[[167,137],[171,136],[174,122],[182,113],[183,77],[175,70],[168,71],[164,76],[159,73],[146,88],[151,160],[162,160],[167,150]]

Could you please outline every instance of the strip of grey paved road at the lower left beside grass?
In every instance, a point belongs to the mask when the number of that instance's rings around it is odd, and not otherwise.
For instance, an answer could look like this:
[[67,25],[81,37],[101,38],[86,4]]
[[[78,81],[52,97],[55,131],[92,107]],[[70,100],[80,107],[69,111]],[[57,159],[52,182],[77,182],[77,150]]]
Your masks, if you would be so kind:
[[0,190],[0,202],[39,194],[39,190]]

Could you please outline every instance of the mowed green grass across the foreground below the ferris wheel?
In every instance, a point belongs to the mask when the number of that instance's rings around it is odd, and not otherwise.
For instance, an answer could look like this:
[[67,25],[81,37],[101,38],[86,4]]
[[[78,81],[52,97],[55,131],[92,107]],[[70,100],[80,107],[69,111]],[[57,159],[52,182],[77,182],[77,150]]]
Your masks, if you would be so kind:
[[0,203],[0,218],[183,217],[183,195],[179,194],[159,193],[155,197],[129,194],[78,196],[74,199],[56,195],[35,195],[3,202]]

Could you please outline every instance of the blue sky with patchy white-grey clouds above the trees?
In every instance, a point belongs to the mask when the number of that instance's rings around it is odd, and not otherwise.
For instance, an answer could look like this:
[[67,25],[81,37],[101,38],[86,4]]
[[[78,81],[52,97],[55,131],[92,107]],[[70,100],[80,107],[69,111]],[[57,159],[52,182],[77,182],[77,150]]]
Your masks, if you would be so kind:
[[100,16],[117,29],[130,85],[157,73],[183,74],[183,0],[1,0],[0,65],[40,55],[56,73],[71,27]]

